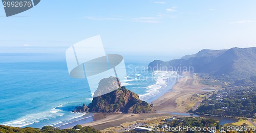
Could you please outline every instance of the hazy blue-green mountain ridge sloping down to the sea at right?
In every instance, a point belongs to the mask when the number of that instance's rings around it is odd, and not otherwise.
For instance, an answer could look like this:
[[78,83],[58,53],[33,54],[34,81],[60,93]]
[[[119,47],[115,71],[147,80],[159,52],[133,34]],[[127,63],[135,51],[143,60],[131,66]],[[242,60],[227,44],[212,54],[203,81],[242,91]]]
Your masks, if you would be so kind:
[[[170,70],[193,66],[193,72],[213,76],[228,75],[233,78],[256,76],[256,47],[231,48],[229,50],[201,50],[193,55],[170,61],[154,60],[148,64],[149,70]],[[164,67],[167,67],[164,68]]]

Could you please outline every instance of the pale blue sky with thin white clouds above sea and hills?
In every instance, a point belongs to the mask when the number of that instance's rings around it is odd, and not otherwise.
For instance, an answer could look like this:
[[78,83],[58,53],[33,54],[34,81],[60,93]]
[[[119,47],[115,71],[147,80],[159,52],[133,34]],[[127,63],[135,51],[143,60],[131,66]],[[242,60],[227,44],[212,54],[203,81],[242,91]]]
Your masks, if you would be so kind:
[[[127,60],[177,59],[202,49],[256,47],[256,1],[45,1],[6,17],[0,5],[0,62],[65,60],[74,43],[100,35]],[[4,53],[11,53],[1,57]],[[34,53],[33,55],[28,53]],[[54,55],[54,57],[51,57]]]

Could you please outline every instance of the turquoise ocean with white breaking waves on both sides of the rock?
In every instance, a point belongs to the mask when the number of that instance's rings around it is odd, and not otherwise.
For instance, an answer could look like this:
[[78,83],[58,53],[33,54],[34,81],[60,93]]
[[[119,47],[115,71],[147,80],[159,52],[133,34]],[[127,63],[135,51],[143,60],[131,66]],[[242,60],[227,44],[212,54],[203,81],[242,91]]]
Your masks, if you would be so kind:
[[[152,102],[169,91],[165,88],[166,79],[177,74],[148,72],[147,63],[125,63],[127,80],[122,85],[140,99]],[[72,113],[72,110],[83,103],[88,105],[91,100],[86,79],[70,77],[66,62],[0,63],[1,125],[41,128],[81,120],[90,122],[92,114]]]

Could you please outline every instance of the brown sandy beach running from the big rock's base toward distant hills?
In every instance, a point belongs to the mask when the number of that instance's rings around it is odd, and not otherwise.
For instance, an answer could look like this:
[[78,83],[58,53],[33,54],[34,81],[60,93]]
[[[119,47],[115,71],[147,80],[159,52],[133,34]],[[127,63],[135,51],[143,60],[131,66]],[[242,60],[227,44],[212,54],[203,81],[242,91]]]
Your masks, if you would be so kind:
[[151,114],[96,114],[94,115],[94,121],[90,123],[81,124],[82,126],[91,126],[97,130],[102,130],[109,127],[120,126],[125,122],[132,122],[136,120],[170,116],[167,112],[184,113],[186,110],[182,110],[177,106],[177,103],[181,103],[186,100],[186,97],[198,92],[202,92],[202,89],[208,86],[202,85],[198,82],[196,77],[192,73],[185,72],[183,77],[178,79],[176,84],[167,85],[169,92],[153,101],[154,108],[157,113]]

